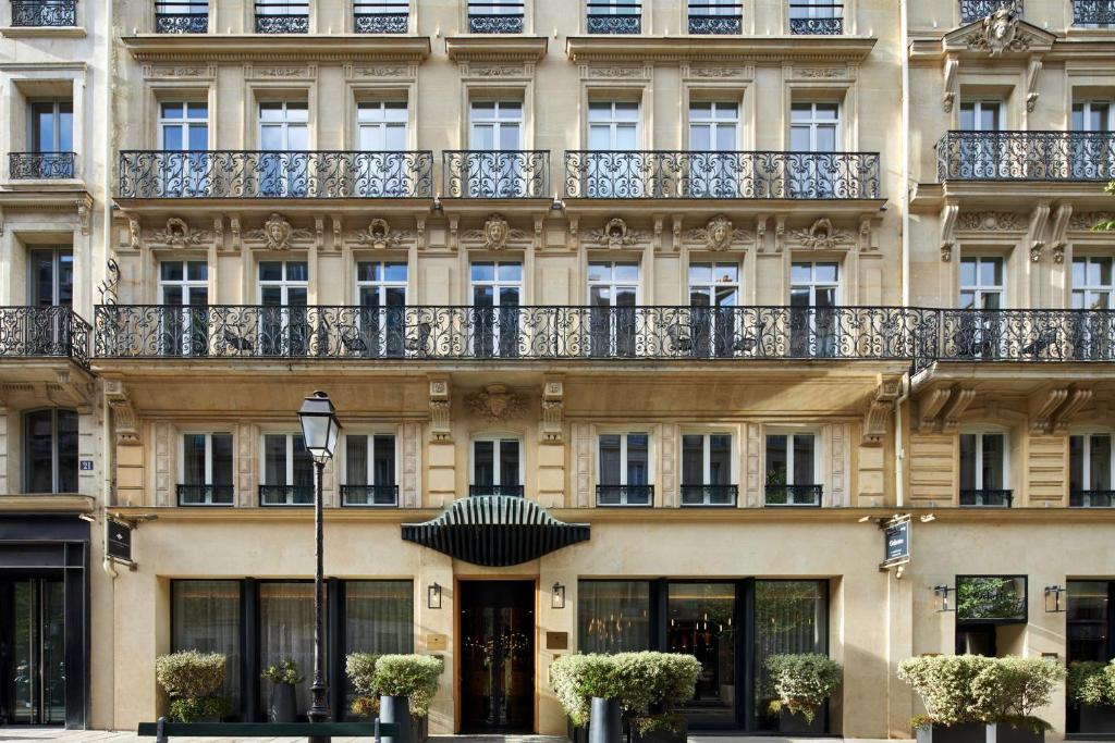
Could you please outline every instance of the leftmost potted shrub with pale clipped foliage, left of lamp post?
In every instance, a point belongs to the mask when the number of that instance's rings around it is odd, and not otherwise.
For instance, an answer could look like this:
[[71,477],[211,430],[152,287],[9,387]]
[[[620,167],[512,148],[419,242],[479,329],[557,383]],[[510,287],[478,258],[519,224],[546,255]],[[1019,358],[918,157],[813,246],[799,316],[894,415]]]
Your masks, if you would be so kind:
[[155,658],[155,678],[171,697],[167,716],[174,722],[220,722],[229,700],[217,696],[224,683],[222,653],[180,651]]

